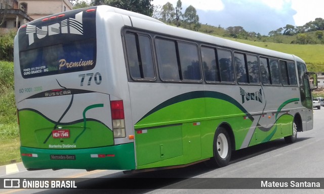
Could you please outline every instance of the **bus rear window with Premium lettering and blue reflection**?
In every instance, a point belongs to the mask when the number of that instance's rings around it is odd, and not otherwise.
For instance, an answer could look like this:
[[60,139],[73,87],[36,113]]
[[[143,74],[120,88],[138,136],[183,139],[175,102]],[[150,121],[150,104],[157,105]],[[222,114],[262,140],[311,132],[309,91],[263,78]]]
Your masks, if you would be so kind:
[[24,78],[91,70],[95,64],[95,39],[79,40],[20,52],[20,68]]

